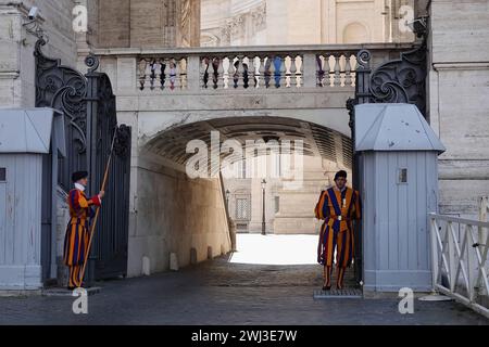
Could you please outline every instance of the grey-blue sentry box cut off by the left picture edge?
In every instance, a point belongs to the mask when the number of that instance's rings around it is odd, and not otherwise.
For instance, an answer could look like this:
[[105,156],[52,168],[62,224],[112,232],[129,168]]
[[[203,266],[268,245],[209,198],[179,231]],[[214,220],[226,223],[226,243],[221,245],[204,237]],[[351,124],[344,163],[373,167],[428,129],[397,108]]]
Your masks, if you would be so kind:
[[0,291],[40,290],[53,273],[63,114],[0,110]]

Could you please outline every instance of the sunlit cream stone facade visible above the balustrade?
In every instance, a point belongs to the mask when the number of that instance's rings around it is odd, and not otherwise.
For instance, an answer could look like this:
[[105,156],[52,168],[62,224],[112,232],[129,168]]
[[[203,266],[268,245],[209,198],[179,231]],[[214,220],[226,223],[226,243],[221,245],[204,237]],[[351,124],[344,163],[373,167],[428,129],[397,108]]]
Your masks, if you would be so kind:
[[414,2],[202,0],[201,44],[411,42],[413,35],[402,30],[400,23],[414,16]]

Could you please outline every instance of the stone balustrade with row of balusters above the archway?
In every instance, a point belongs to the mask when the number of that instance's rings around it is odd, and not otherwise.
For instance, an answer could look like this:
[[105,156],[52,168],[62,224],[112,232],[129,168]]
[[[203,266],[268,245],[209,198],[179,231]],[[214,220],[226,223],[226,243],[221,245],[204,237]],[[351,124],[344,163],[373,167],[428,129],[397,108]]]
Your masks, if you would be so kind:
[[[272,91],[301,88],[355,87],[356,54],[367,49],[374,66],[398,57],[409,44],[369,43],[331,46],[271,46],[237,48],[188,48],[172,50],[96,50],[104,57],[131,60],[141,92],[174,93],[213,90]],[[117,69],[120,64],[117,64]],[[127,64],[123,64],[127,68]],[[109,72],[110,74],[110,72]],[[117,75],[121,75],[117,72]]]

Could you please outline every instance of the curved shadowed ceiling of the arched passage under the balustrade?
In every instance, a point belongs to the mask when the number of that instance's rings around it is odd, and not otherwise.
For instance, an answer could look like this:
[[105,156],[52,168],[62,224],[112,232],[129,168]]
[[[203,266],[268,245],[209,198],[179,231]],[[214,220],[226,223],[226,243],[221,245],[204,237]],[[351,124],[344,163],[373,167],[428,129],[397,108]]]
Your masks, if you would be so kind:
[[146,144],[145,150],[178,166],[185,166],[193,155],[186,153],[187,143],[191,140],[202,140],[210,149],[211,131],[220,132],[221,143],[234,139],[241,143],[243,149],[247,140],[303,140],[305,155],[321,156],[341,163],[348,168],[352,165],[352,145],[349,138],[316,124],[281,117],[228,117],[192,123],[159,133]]

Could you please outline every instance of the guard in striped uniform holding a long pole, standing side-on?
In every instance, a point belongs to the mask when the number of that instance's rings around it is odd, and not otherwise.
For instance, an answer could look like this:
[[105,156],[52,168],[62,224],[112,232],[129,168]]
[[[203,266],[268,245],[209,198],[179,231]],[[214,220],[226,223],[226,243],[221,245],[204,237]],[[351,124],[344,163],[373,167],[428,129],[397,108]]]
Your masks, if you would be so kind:
[[92,206],[100,206],[104,192],[100,192],[90,198],[85,195],[88,183],[88,172],[77,171],[72,175],[74,189],[70,191],[67,203],[70,205],[70,222],[64,237],[64,264],[70,268],[68,290],[74,290],[83,284],[80,272],[86,258],[90,239],[89,218],[95,216]]

